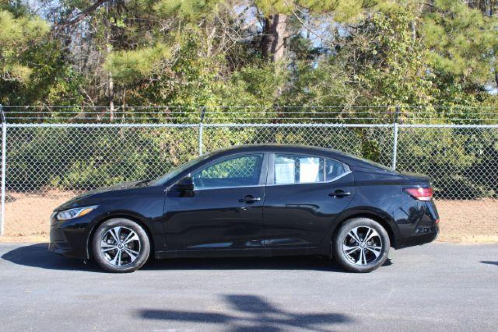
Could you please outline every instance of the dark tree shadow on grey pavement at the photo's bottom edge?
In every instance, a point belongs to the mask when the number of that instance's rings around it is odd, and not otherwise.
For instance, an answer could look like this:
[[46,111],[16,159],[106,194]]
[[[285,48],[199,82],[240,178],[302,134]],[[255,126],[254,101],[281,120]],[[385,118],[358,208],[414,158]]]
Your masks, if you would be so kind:
[[144,320],[169,322],[166,329],[174,328],[173,323],[183,322],[209,324],[208,329],[221,328],[214,326],[218,324],[229,331],[331,331],[331,326],[353,322],[343,314],[288,312],[254,295],[224,295],[223,298],[234,313],[142,309],[137,315]]

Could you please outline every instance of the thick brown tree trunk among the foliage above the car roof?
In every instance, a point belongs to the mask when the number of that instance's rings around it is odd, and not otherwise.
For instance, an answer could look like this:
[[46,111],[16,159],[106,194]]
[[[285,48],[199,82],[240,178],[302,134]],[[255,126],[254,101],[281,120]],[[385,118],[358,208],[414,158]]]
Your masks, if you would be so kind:
[[263,57],[277,62],[283,57],[286,14],[273,14],[264,19],[261,51]]

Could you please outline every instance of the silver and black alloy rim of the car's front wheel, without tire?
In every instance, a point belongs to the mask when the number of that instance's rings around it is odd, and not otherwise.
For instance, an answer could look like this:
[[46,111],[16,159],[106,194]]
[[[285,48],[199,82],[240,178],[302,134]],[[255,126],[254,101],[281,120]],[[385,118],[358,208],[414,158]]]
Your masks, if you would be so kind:
[[140,238],[128,227],[113,227],[102,236],[100,252],[110,264],[127,266],[138,258]]

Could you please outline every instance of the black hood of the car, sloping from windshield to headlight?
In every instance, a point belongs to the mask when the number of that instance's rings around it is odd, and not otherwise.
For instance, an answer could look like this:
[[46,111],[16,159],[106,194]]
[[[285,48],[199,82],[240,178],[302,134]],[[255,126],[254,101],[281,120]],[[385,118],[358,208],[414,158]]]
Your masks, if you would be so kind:
[[107,196],[108,194],[114,194],[120,191],[142,188],[147,186],[148,180],[140,180],[140,181],[132,181],[132,182],[124,182],[114,186],[97,188],[88,192],[85,192],[81,195],[73,197],[66,203],[55,208],[54,211],[67,210],[72,208],[78,208],[87,205],[95,205],[98,203],[99,199]]

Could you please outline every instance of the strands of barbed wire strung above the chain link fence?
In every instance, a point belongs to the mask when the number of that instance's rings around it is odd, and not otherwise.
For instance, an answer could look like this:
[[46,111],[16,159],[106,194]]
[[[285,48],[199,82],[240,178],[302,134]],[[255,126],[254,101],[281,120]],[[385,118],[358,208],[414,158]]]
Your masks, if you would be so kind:
[[[109,106],[7,105],[7,123],[448,123],[498,124],[498,106],[247,105]],[[494,110],[497,110],[494,112]]]

